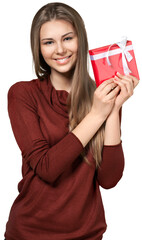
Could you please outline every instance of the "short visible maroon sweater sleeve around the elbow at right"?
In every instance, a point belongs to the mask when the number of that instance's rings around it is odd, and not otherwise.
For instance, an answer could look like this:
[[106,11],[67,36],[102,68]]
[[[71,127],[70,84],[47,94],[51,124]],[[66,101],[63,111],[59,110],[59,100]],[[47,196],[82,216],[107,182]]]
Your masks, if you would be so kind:
[[[121,123],[122,109],[120,109]],[[120,129],[121,131],[121,129]],[[102,150],[102,162],[97,170],[97,180],[105,189],[113,188],[119,182],[124,170],[124,153],[122,140],[116,145],[104,145]]]

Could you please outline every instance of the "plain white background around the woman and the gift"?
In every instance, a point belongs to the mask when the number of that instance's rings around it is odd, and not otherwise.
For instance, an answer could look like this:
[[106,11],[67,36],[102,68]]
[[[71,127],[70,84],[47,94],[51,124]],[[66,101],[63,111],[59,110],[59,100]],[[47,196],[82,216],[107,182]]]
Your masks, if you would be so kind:
[[[141,1],[67,0],[83,17],[89,48],[119,41],[122,36],[132,40],[140,78],[142,76]],[[32,68],[30,27],[35,13],[48,1],[1,1],[0,6],[0,239],[11,205],[17,197],[21,180],[21,153],[14,139],[7,112],[7,91],[17,81],[36,78]],[[92,68],[90,65],[90,74]],[[104,240],[141,240],[142,216],[142,84],[123,105],[122,144],[125,170],[118,185],[101,189],[108,229]],[[20,239],[17,239],[20,240]],[[30,240],[30,239],[27,239]]]

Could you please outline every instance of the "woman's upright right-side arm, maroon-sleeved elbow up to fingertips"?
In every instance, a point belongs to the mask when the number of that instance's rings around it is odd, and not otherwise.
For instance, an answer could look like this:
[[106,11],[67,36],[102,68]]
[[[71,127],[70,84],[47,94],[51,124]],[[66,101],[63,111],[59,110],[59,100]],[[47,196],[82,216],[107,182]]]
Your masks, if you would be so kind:
[[114,82],[120,87],[120,93],[116,97],[113,110],[106,121],[102,163],[97,171],[97,180],[106,189],[114,187],[123,174],[124,154],[120,140],[121,108],[123,103],[133,95],[133,90],[139,80],[131,75],[124,76],[117,73]]

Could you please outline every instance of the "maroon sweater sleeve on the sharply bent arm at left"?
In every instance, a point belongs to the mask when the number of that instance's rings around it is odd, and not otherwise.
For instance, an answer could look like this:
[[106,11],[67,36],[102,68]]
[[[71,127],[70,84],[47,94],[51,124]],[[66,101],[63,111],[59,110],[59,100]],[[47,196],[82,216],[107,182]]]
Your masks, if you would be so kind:
[[80,140],[69,132],[50,147],[42,134],[35,100],[22,82],[13,84],[8,91],[8,114],[23,161],[42,180],[53,183],[83,151]]

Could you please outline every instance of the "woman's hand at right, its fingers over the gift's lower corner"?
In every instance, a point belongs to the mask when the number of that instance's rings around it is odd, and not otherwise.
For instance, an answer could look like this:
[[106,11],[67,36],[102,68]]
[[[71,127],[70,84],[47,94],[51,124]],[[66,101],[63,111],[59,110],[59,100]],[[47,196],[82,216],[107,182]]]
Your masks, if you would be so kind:
[[120,93],[117,95],[114,109],[120,109],[123,103],[133,95],[134,88],[138,85],[139,80],[132,75],[122,75],[117,73],[114,77],[114,83],[120,87]]

